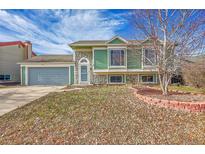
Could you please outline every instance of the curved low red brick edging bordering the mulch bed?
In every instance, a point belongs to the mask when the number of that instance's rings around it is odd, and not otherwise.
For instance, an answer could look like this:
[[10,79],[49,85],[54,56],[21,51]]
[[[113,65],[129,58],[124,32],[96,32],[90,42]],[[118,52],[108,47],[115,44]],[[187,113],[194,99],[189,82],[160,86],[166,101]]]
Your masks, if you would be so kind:
[[159,107],[165,107],[165,108],[171,108],[171,109],[177,109],[177,110],[184,110],[184,111],[190,111],[190,112],[204,112],[205,111],[205,102],[180,102],[180,101],[172,101],[172,100],[164,100],[164,99],[158,99],[158,98],[152,98],[149,96],[141,95],[137,93],[137,89],[131,88],[134,90],[135,96],[142,100],[145,103],[156,105]]

